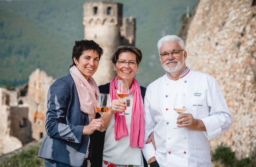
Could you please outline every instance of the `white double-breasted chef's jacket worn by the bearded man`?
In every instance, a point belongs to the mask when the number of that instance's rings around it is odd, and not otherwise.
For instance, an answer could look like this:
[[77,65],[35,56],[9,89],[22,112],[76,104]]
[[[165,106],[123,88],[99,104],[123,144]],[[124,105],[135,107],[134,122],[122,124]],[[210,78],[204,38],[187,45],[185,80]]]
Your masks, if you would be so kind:
[[[178,114],[173,110],[176,93],[186,93],[187,111],[201,119],[206,132],[177,127]],[[232,117],[215,79],[207,74],[189,71],[174,81],[164,75],[146,90],[145,140],[142,149],[148,161],[156,157],[160,167],[211,167],[210,139],[231,126]],[[167,108],[167,110],[166,110]],[[154,131],[157,150],[152,142],[145,144]]]

